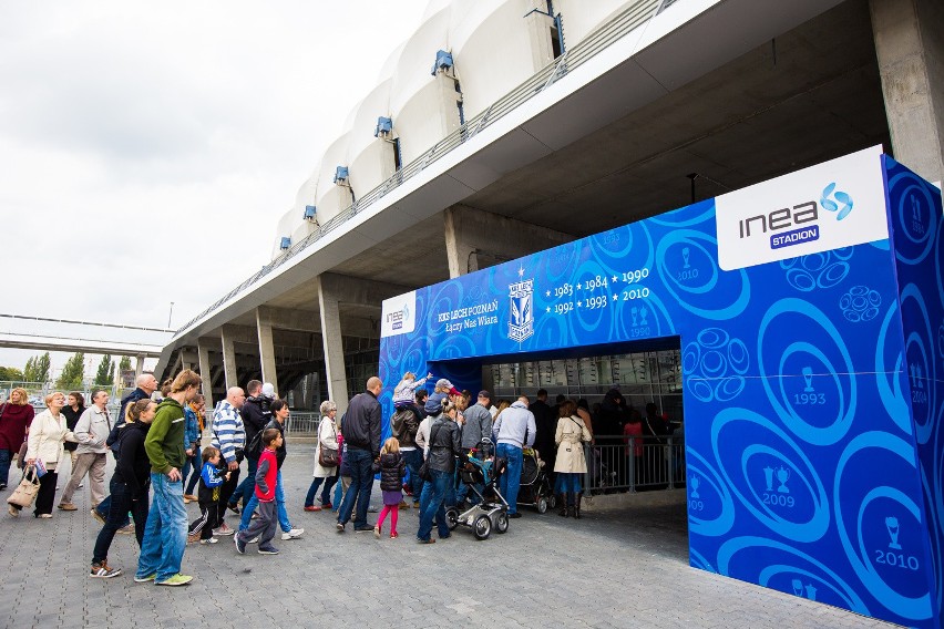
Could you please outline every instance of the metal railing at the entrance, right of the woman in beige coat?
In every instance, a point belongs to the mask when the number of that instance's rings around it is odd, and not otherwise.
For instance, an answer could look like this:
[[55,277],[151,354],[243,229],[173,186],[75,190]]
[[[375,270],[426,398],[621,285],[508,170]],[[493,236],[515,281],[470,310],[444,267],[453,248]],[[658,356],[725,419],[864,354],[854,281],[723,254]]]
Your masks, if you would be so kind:
[[685,440],[664,436],[597,435],[587,445],[586,491],[637,492],[685,486]]

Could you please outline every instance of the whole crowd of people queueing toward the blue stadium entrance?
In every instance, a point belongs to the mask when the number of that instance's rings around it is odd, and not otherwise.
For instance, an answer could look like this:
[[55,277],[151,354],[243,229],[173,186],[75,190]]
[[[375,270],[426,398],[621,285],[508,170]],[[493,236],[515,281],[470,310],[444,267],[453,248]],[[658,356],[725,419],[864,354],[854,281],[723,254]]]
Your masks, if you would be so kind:
[[[392,435],[382,442],[379,396],[383,383],[379,378],[367,381],[365,391],[349,401],[340,417],[335,402],[321,403],[314,477],[304,512],[331,509],[339,533],[351,524],[355,532],[377,537],[389,516],[389,536],[397,538],[399,512],[412,506],[419,515],[417,542],[435,543],[433,527],[438,538],[445,539],[451,535],[447,507],[462,511],[482,493],[481,487],[470,492],[468,485],[456,482],[458,465],[488,439],[506,465],[500,492],[510,518],[521,517],[519,484],[524,453],[532,447],[541,453],[554,480],[560,515],[581,517],[582,480],[587,472],[584,446],[594,440],[586,401],[562,396],[551,406],[546,391],[541,390],[533,402],[520,396],[493,404],[491,393],[483,390],[473,402],[471,392],[458,391],[447,379],[438,380],[428,394],[423,384],[431,378],[431,373],[422,379],[407,373],[397,384],[394,413],[389,420]],[[291,524],[281,477],[288,405],[276,398],[271,384],[253,380],[245,391],[228,389],[208,420],[201,385],[197,373],[184,370],[160,386],[158,394],[154,375],[144,373],[135,390],[122,399],[114,421],[105,391],[94,391],[88,406],[81,393],[51,393],[45,398],[47,409],[33,416],[27,392],[13,390],[8,403],[0,406],[0,488],[6,488],[10,462],[25,443],[25,466],[43,472],[33,515],[51,518],[58,474],[70,460],[71,473],[58,508],[76,511],[73,497],[88,478],[92,515],[103,525],[91,556],[90,576],[94,578],[122,573],[107,557],[117,533],[135,535],[140,556],[134,580],[138,582],[189,582],[193,577],[182,574],[181,566],[192,543],[212,545],[233,536],[239,554],[250,544],[257,544],[259,554],[278,554],[273,544],[278,528],[283,540],[305,533]],[[596,415],[597,425],[606,426],[604,434],[628,435],[632,433],[624,432],[625,427],[642,423],[628,413],[618,432],[618,423],[607,424],[614,421],[610,406],[622,412],[620,401],[618,392],[604,400],[604,409]],[[649,430],[655,434],[667,430],[663,424],[653,425],[660,419],[648,411],[643,422]],[[202,447],[207,429],[211,444]],[[110,451],[115,470],[106,494]],[[240,483],[244,461],[246,476]],[[370,523],[378,474],[383,506],[377,522]],[[185,505],[192,502],[198,504],[199,515],[188,524]],[[19,505],[9,506],[13,517],[21,511]],[[237,527],[224,520],[227,513],[240,516]]]

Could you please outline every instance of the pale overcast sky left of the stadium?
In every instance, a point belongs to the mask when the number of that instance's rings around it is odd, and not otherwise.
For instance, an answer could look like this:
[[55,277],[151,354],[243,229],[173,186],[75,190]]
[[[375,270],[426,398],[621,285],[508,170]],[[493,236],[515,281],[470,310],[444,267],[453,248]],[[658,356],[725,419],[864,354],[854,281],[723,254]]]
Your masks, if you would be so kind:
[[425,4],[0,3],[0,312],[189,320],[268,261]]

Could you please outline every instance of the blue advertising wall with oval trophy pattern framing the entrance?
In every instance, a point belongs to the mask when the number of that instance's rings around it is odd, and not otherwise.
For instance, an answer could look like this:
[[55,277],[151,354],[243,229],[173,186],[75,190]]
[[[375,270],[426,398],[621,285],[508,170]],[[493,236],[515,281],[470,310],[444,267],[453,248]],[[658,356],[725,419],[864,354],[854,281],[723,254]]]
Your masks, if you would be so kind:
[[[388,300],[384,416],[408,370],[474,391],[483,363],[678,337],[690,564],[938,627],[941,196],[869,176],[885,239],[722,270],[711,199]],[[820,189],[823,233],[869,200]]]

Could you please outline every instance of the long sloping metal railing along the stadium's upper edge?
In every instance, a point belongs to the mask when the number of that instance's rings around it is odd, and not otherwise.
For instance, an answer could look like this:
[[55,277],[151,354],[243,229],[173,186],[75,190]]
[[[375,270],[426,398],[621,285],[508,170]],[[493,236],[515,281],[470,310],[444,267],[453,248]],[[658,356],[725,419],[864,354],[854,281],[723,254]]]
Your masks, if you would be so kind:
[[216,310],[244,290],[254,286],[260,279],[270,275],[279,267],[281,267],[285,262],[300,254],[302,250],[307,249],[309,245],[316,243],[325,235],[334,231],[335,229],[353,218],[358,213],[362,212],[365,208],[382,198],[389,192],[399,187],[414,175],[421,173],[427,166],[444,157],[451,151],[453,151],[464,142],[475,137],[475,135],[478,135],[482,130],[500,121],[502,117],[521,106],[523,103],[530,101],[544,90],[552,86],[562,76],[565,76],[571,71],[579,68],[581,65],[596,56],[599,52],[612,45],[614,42],[622,39],[624,35],[628,34],[634,29],[643,24],[643,22],[654,17],[660,3],[661,0],[637,0],[636,2],[634,2],[619,16],[617,16],[616,18],[601,27],[598,30],[589,34],[584,41],[579,42],[574,48],[567,50],[561,56],[555,59],[552,63],[538,70],[536,74],[532,75],[524,83],[522,83],[521,85],[519,85],[517,87],[492,103],[492,105],[489,106],[484,112],[470,118],[459,128],[437,142],[425,153],[403,166],[401,169],[397,171],[397,173],[394,173],[390,178],[381,183],[379,186],[367,193],[361,198],[357,199],[357,202],[352,203],[337,216],[325,221],[324,225],[319,224],[317,230],[312,231],[311,234],[289,247],[279,257],[274,259],[268,265],[264,266],[261,269],[253,274],[253,276],[243,281],[239,286],[237,286],[236,288],[227,292],[225,296],[216,300],[203,312],[187,321],[184,326],[181,327],[179,330],[177,330],[177,333],[183,330],[186,330],[187,328],[198,322],[201,319],[205,318],[207,314],[209,314],[211,312],[213,312],[214,310]]

